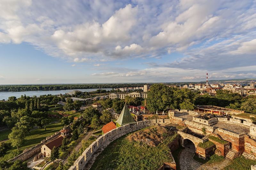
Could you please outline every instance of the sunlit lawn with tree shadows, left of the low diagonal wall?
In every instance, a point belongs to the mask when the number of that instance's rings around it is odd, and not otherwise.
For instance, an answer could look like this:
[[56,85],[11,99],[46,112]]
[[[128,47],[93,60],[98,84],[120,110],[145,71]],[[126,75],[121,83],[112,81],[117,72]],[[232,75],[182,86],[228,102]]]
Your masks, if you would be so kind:
[[[46,131],[44,130],[44,128],[32,130],[29,133],[29,135],[25,138],[24,145],[21,148],[19,148],[19,150],[23,151],[26,148],[30,148],[32,146],[35,146],[36,144],[39,144],[41,140],[45,139],[45,137],[53,135],[55,132],[62,129],[62,127],[63,125],[61,123],[52,123],[46,127]],[[10,141],[7,142],[9,143]],[[15,150],[17,150],[17,148],[12,147],[10,150],[7,151],[4,157],[0,158],[0,160],[12,159],[12,152]]]

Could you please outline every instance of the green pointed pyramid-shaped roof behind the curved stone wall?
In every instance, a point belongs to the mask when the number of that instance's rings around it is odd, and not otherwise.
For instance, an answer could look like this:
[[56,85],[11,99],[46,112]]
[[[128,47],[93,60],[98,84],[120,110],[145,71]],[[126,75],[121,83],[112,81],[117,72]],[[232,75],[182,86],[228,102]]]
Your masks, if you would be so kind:
[[136,123],[134,121],[132,115],[130,114],[130,111],[126,104],[124,105],[124,108],[123,108],[119,118],[117,119],[116,123],[118,123],[120,126]]

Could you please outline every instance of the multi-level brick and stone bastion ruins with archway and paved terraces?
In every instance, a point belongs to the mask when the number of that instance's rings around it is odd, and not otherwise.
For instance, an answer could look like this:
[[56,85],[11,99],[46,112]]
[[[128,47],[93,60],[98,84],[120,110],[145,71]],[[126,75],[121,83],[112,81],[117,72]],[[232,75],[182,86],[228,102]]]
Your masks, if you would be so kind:
[[[169,117],[171,123],[185,126],[186,129],[179,130],[181,144],[184,139],[191,140],[196,147],[196,153],[205,158],[210,156],[211,150],[217,149],[219,155],[234,159],[239,155],[244,155],[249,159],[256,159],[256,125],[245,120],[225,117],[213,117],[208,120],[202,119],[195,111],[170,110]],[[204,129],[204,132],[203,130]],[[204,135],[203,138],[195,137],[188,132]],[[214,136],[219,140],[212,140],[208,136]],[[201,141],[200,141],[201,140]],[[214,144],[212,149],[200,148],[198,143],[211,141]]]

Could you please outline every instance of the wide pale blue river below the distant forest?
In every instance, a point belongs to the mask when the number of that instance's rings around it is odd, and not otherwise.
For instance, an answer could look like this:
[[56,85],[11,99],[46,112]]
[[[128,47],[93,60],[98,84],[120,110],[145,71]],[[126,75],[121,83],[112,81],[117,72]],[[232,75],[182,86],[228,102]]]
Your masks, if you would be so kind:
[[[25,92],[0,92],[0,100],[8,100],[8,97],[10,96],[15,96],[16,98],[19,98],[21,95],[24,96],[24,94],[26,94],[26,96],[40,96],[40,95],[47,95],[47,94],[52,94],[52,95],[56,95],[56,94],[65,94],[68,92],[72,92],[74,90],[79,90],[82,92],[93,92],[96,91],[98,89],[72,89],[72,90],[49,90],[49,91],[43,91],[43,90],[38,90],[38,91],[25,91]],[[105,88],[104,90],[112,90],[112,88]]]

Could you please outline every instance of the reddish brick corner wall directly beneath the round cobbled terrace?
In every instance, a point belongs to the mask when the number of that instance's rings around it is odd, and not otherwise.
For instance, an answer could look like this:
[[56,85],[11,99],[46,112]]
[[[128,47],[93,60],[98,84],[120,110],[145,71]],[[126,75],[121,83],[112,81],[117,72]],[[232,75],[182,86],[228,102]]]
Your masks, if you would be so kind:
[[224,140],[230,142],[232,144],[232,149],[239,152],[239,155],[244,152],[244,135],[238,135],[220,128],[217,128],[216,132],[218,132]]

